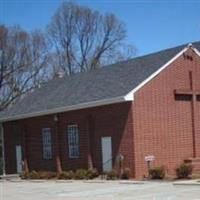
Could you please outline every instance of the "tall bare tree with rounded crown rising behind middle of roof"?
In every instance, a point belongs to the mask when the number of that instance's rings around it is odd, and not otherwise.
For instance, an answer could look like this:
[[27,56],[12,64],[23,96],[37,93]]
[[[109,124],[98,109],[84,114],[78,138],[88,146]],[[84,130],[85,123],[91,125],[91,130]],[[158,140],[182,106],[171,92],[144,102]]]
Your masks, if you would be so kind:
[[[95,69],[133,56],[125,25],[113,14],[64,2],[48,26],[58,70],[67,74]],[[127,54],[127,50],[129,54]],[[131,52],[131,53],[130,53]]]

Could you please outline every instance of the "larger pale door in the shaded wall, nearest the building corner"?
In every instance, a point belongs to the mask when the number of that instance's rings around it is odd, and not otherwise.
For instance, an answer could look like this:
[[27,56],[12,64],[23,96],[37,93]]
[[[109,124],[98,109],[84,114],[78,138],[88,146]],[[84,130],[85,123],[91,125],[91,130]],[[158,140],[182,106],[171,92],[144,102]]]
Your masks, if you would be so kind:
[[112,140],[111,137],[101,138],[102,169],[104,172],[112,170]]

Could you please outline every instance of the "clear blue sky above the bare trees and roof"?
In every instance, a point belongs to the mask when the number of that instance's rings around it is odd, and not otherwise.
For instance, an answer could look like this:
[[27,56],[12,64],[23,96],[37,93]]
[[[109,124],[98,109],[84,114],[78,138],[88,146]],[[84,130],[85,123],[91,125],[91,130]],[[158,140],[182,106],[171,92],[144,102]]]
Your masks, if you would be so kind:
[[[44,29],[62,0],[0,0],[0,23]],[[200,0],[76,0],[112,12],[127,26],[127,41],[143,55],[200,40]]]

